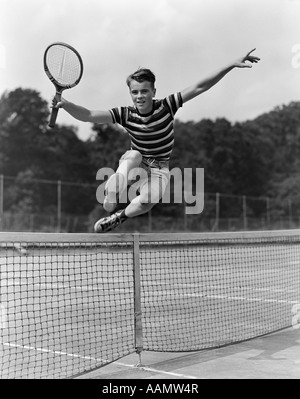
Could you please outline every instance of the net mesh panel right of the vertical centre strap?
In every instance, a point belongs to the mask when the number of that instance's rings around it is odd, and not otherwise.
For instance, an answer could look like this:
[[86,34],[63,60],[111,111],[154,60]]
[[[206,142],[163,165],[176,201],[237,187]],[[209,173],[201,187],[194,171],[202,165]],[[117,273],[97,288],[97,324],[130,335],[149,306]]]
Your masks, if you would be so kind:
[[140,253],[144,350],[211,348],[292,323],[298,237],[156,242]]

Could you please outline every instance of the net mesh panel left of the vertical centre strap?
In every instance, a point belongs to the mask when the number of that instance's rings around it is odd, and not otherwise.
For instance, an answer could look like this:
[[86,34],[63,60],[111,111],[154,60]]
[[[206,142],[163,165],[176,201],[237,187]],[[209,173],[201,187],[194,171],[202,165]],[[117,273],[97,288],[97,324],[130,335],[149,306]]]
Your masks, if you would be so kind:
[[134,351],[130,246],[2,246],[1,378],[67,378]]

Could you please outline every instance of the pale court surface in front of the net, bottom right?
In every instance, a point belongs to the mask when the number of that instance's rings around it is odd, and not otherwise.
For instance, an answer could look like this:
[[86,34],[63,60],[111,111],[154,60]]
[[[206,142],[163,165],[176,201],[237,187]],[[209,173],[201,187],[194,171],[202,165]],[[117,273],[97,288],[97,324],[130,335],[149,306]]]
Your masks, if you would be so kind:
[[111,380],[122,380],[124,384],[124,380],[159,380],[163,383],[165,380],[299,379],[300,330],[288,328],[199,352],[145,352],[140,367],[137,367],[138,362],[136,354],[125,356],[77,378],[99,379],[102,384]]

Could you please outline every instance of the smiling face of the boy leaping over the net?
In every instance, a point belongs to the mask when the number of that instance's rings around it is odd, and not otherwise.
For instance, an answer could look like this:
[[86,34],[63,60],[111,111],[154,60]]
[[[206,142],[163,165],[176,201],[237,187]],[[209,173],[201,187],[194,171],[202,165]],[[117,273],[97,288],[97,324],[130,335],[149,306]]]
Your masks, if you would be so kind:
[[137,82],[136,80],[132,80],[129,91],[133,104],[140,114],[148,114],[152,111],[152,101],[156,90],[153,88],[151,82]]

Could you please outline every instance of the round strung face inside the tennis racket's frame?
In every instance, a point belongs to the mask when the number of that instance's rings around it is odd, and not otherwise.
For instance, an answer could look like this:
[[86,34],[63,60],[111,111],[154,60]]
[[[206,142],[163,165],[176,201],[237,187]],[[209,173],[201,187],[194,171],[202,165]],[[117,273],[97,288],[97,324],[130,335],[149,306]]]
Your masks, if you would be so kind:
[[77,54],[65,46],[52,46],[47,53],[52,77],[62,86],[74,85],[80,79],[82,65]]

